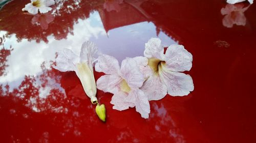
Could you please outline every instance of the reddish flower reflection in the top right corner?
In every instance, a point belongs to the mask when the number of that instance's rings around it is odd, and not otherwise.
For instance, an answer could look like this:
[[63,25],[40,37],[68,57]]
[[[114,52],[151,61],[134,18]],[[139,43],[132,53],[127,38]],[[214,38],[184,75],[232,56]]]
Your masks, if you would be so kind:
[[244,12],[249,7],[250,5],[244,8],[244,4],[242,3],[235,5],[227,4],[225,8],[221,9],[221,14],[225,15],[222,19],[222,24],[229,28],[233,27],[233,24],[244,26],[246,24]]

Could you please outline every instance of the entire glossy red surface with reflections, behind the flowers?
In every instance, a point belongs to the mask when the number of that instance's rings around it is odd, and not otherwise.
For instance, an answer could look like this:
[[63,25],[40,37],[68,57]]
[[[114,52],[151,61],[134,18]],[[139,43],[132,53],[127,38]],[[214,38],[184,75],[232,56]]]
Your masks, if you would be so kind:
[[[112,11],[104,1],[61,1],[50,16],[23,13],[28,2],[0,11],[0,142],[256,142],[256,4],[230,28],[219,0],[123,0]],[[121,61],[157,36],[193,54],[195,90],[150,101],[147,120],[112,109],[112,94],[98,91],[102,123],[75,73],[52,69],[55,52],[84,40]]]

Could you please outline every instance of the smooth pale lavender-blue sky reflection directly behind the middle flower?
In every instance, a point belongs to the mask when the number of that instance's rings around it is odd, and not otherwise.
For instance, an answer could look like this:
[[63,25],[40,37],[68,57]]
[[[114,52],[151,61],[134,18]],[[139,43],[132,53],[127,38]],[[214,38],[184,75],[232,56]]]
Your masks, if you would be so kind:
[[[157,37],[154,23],[141,22],[115,28],[108,32],[108,37],[92,37],[91,41],[97,43],[99,51],[109,54],[122,61],[126,57],[143,56],[144,44],[152,37]],[[176,42],[160,32],[158,36],[163,45],[168,46]]]

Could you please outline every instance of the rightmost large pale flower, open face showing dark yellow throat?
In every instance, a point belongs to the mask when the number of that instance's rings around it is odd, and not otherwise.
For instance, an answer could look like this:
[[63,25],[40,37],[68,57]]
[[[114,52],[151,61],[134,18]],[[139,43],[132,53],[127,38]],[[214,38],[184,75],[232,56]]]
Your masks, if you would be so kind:
[[161,40],[151,38],[145,44],[144,56],[153,72],[141,87],[148,100],[160,100],[167,93],[184,96],[194,90],[192,78],[181,73],[191,69],[193,60],[192,54],[182,45],[170,45],[164,54]]

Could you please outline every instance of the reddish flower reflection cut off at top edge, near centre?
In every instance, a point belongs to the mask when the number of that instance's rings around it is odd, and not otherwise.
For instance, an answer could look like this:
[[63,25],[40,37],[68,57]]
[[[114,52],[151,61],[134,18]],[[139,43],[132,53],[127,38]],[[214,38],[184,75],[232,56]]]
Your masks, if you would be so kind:
[[121,10],[119,4],[122,4],[123,0],[105,0],[105,3],[103,5],[103,8],[106,9],[106,11],[116,11],[119,12]]

